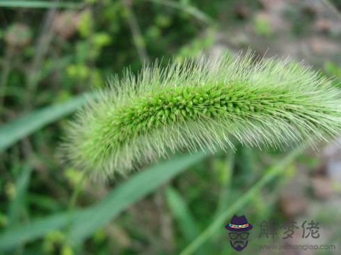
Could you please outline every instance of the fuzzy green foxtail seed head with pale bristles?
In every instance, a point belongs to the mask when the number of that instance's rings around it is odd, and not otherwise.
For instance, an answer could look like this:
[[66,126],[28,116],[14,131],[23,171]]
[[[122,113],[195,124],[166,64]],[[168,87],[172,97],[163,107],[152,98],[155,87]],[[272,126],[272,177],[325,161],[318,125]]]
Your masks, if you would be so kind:
[[103,178],[183,149],[284,148],[341,134],[341,94],[290,60],[205,56],[114,77],[79,110],[63,143],[76,167]]

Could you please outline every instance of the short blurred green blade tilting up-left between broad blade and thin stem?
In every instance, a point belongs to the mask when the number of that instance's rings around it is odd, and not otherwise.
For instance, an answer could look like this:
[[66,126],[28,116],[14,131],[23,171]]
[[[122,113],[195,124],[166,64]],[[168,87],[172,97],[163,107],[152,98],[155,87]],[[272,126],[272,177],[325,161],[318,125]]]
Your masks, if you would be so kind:
[[177,222],[179,222],[180,231],[182,232],[185,240],[187,242],[191,242],[194,238],[196,238],[199,232],[186,201],[182,199],[180,193],[174,188],[168,188],[166,190],[166,198],[170,210]]

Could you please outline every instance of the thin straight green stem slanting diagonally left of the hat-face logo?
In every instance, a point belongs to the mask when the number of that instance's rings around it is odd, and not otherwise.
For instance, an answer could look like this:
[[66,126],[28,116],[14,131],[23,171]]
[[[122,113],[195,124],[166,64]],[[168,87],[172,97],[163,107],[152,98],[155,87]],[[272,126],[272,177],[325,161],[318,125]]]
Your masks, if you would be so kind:
[[267,170],[265,170],[264,176],[257,181],[247,192],[245,192],[239,199],[235,201],[235,203],[232,204],[229,208],[227,208],[219,217],[216,217],[216,219],[209,224],[209,227],[205,229],[200,235],[193,240],[181,253],[180,255],[189,255],[196,252],[196,250],[203,245],[211,236],[214,235],[214,233],[222,228],[224,226],[224,223],[228,221],[229,217],[232,216],[233,213],[238,211],[240,208],[245,206],[251,199],[257,195],[264,186],[266,186],[268,183],[270,183],[276,176],[283,173],[285,170],[285,167],[292,163],[294,159],[301,154],[302,149],[306,147],[307,145],[302,145],[294,149],[290,152],[285,158],[283,158],[281,161],[276,163],[275,165],[272,165],[271,167],[268,167]]

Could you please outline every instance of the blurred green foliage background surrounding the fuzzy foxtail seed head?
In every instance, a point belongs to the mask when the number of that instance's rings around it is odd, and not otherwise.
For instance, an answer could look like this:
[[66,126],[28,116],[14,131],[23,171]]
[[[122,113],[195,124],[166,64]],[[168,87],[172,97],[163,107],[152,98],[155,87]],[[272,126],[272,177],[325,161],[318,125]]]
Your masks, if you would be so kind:
[[155,59],[250,47],[305,59],[340,86],[340,8],[338,0],[1,0],[2,254],[235,254],[223,228],[233,213],[254,226],[320,222],[319,240],[264,240],[255,227],[246,254],[283,242],[336,244],[309,254],[340,254],[340,141],[318,153],[184,154],[105,185],[81,182],[56,149],[67,115],[84,104],[79,94]]

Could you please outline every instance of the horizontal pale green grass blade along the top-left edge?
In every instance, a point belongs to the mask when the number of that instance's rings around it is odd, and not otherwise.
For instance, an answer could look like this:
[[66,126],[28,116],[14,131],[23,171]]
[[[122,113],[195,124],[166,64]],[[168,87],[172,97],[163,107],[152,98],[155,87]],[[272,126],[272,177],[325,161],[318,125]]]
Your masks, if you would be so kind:
[[77,8],[79,3],[58,1],[0,1],[0,7],[10,8]]

